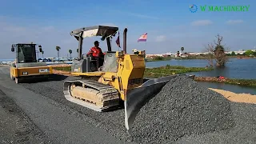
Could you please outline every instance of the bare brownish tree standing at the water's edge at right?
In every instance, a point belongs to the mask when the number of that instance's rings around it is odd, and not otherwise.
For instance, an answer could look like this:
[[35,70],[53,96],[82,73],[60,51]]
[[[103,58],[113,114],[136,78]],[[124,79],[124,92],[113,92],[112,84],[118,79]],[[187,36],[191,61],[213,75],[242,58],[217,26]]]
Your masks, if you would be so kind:
[[217,42],[214,41],[214,44],[209,43],[206,47],[206,50],[209,52],[207,60],[210,63],[210,66],[213,66],[213,59],[215,59],[216,66],[223,67],[226,64],[227,58],[225,54],[225,45],[222,45],[223,37],[219,34],[216,36]]

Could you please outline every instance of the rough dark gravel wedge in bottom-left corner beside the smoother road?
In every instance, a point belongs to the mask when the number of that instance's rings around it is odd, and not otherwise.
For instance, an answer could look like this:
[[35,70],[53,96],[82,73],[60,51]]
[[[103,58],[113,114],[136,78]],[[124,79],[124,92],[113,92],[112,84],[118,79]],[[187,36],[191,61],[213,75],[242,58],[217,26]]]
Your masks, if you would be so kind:
[[50,143],[0,86],[0,143]]

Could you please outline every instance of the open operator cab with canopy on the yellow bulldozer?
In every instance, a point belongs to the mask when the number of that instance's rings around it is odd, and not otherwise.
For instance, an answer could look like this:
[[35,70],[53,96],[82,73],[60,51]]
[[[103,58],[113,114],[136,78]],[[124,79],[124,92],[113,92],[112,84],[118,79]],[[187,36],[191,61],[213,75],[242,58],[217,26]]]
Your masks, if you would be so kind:
[[[118,27],[113,26],[90,26],[71,31],[70,35],[78,40],[78,58],[74,60],[71,66],[71,72],[87,73],[98,70],[116,72],[118,70],[118,61],[115,56],[116,52],[112,51],[110,38],[117,32]],[[86,54],[82,55],[83,38],[91,36],[101,36],[102,41],[106,40],[107,51],[105,52],[103,66],[97,66],[97,59]]]

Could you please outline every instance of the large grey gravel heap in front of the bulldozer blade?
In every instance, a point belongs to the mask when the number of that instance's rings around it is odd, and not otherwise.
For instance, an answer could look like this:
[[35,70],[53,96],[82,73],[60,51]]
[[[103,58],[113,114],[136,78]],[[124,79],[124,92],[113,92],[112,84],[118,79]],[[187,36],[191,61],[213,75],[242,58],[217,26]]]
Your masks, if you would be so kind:
[[230,102],[186,76],[172,79],[142,107],[133,127],[135,142],[170,143],[190,134],[234,126]]

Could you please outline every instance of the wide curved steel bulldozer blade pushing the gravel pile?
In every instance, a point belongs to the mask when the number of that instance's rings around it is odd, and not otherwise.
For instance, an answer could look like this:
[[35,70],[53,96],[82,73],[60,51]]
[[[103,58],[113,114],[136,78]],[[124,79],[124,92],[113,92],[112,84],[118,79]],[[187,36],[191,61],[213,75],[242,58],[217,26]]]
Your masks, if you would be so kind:
[[[170,82],[170,79],[176,78],[178,75],[186,74],[176,74],[168,77],[150,79],[144,82],[142,86],[127,92],[125,101],[125,124],[128,132],[130,132],[136,115],[142,106],[144,106],[146,102],[149,102],[151,98],[154,98],[154,96],[162,90],[162,87],[165,86],[167,82]],[[194,75],[188,77],[194,79]]]

